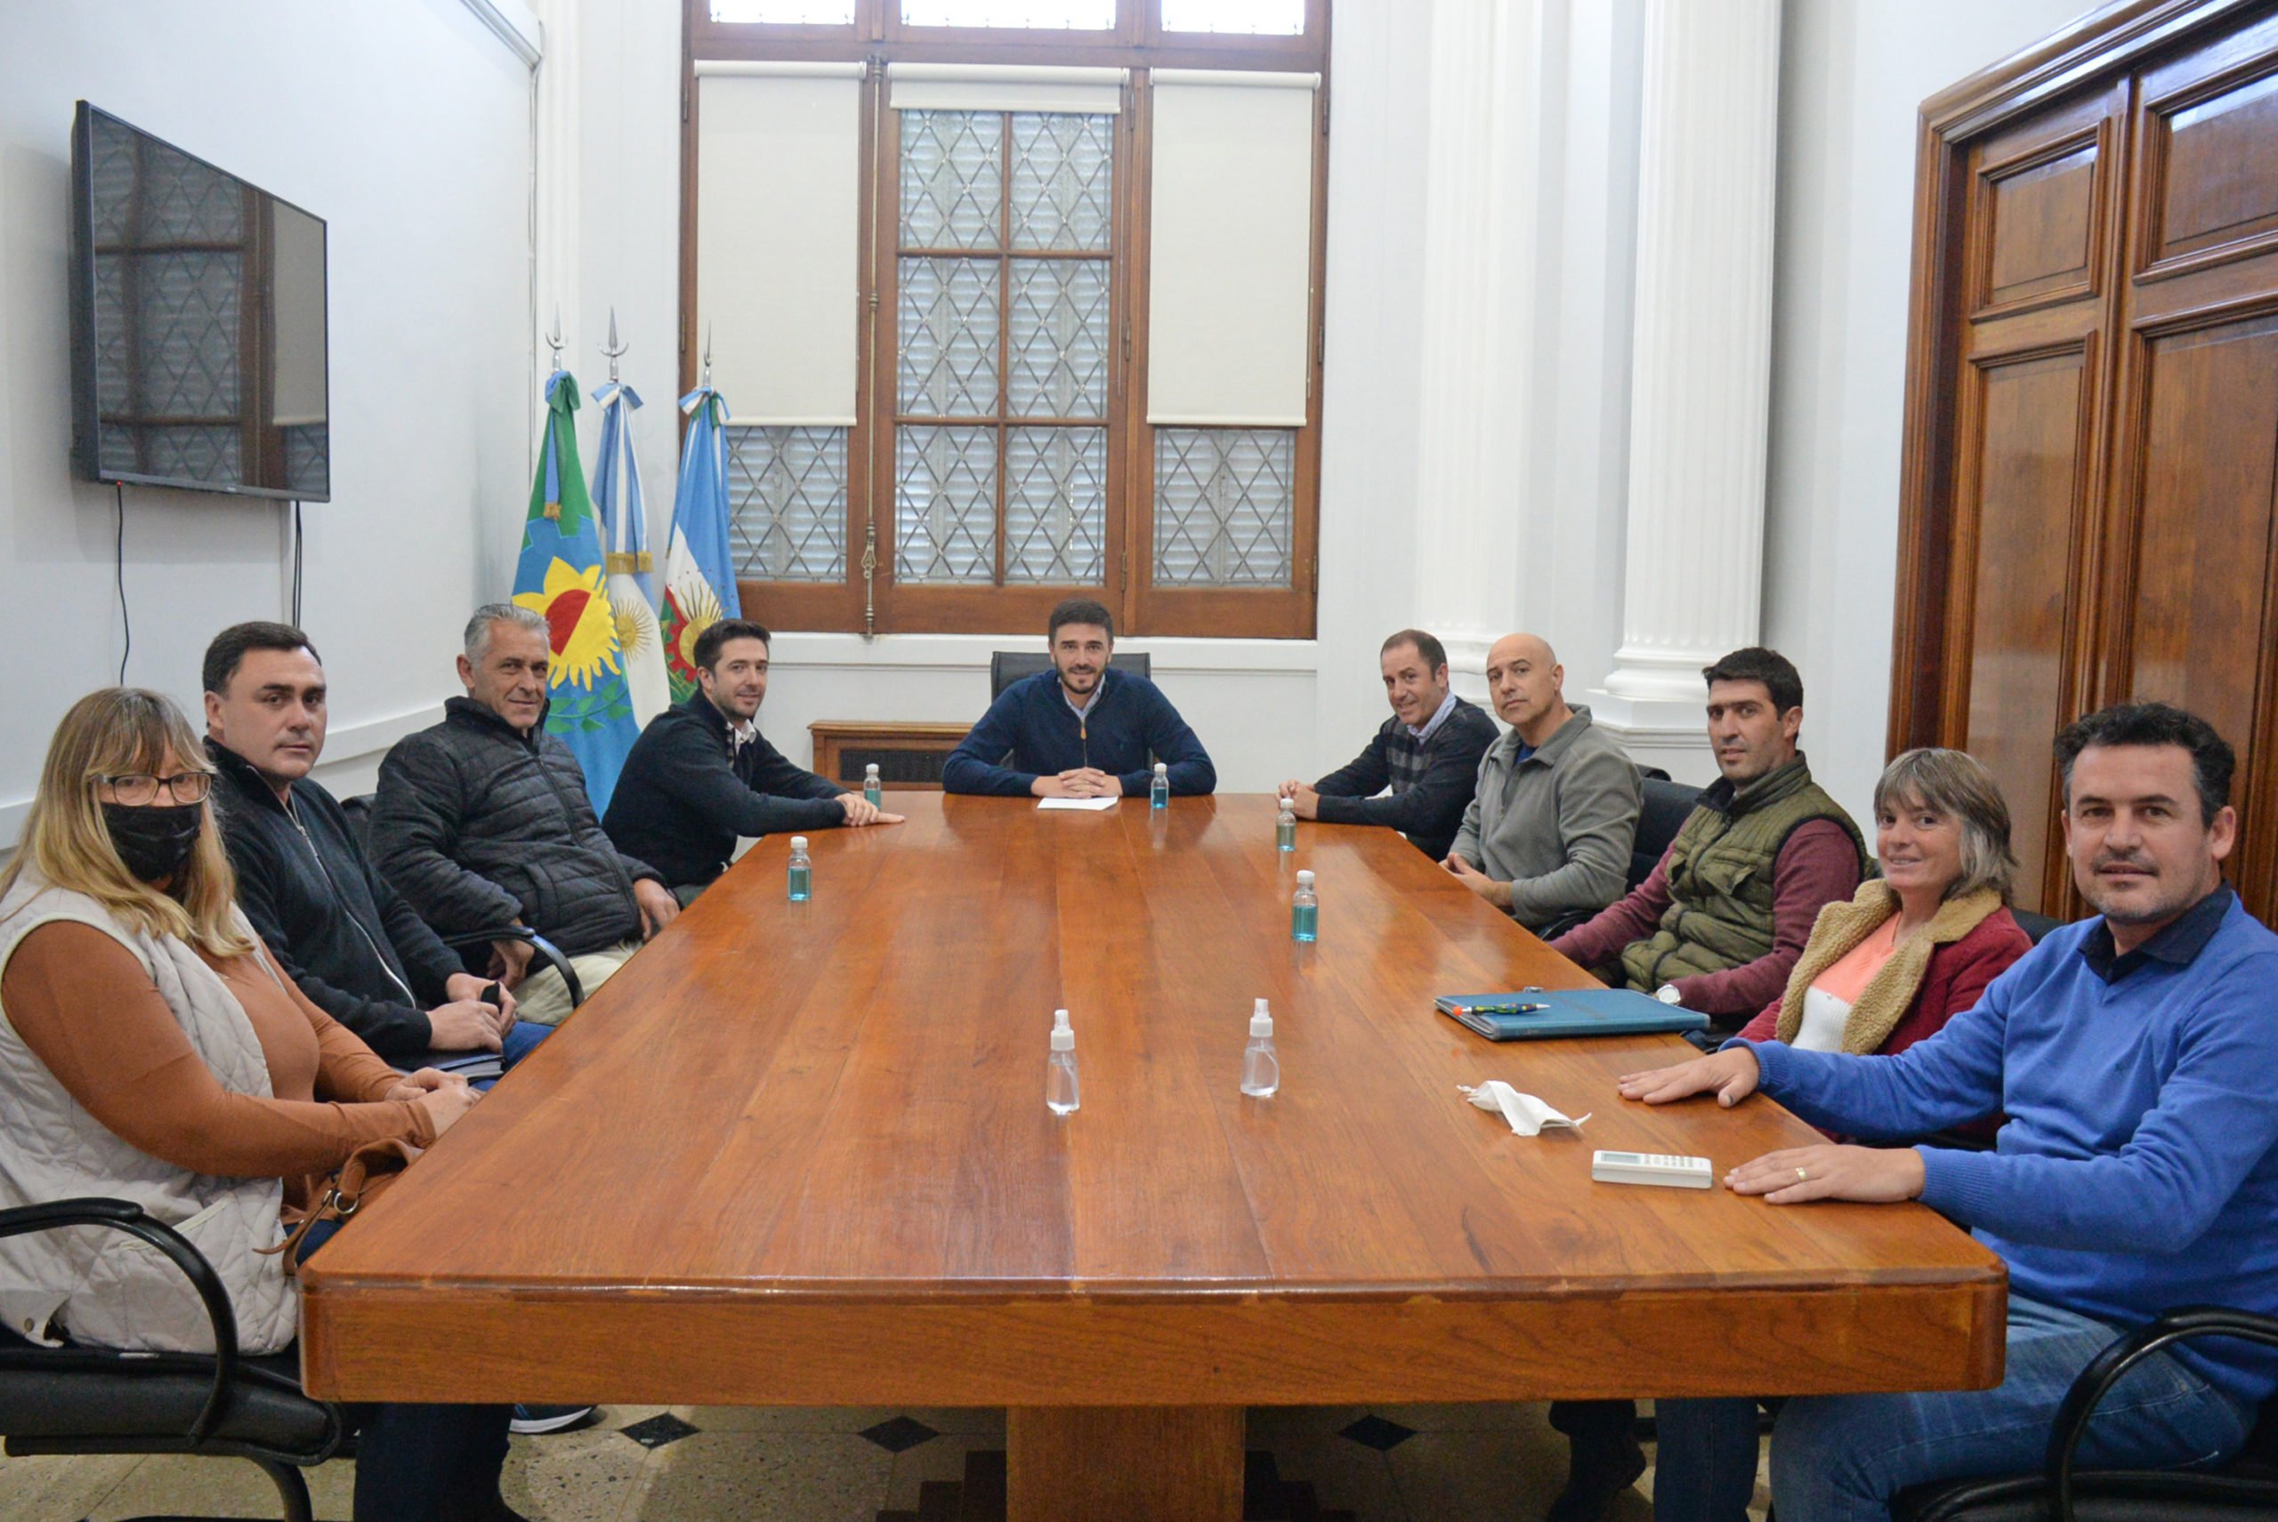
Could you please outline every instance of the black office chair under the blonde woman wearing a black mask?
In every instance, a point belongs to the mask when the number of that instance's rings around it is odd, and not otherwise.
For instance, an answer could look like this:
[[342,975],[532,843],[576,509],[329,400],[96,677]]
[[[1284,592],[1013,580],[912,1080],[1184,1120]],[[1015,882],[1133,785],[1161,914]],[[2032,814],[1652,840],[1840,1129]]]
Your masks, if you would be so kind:
[[[0,1333],[0,1433],[11,1456],[203,1454],[248,1458],[278,1488],[285,1522],[310,1522],[301,1470],[339,1451],[337,1406],[301,1392],[296,1360],[237,1351],[237,1315],[214,1267],[185,1235],[114,1198],[0,1210],[0,1237],[103,1226],[139,1237],[189,1278],[214,1328],[214,1353],[121,1353],[39,1347]],[[169,1522],[146,1517],[144,1522]],[[191,1522],[191,1520],[182,1520]]]

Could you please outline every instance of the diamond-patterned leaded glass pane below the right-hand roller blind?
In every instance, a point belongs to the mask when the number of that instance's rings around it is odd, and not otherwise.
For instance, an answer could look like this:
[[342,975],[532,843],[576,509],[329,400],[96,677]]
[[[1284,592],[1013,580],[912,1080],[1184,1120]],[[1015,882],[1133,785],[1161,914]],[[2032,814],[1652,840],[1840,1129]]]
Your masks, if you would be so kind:
[[1292,428],[1155,431],[1155,586],[1289,586]]

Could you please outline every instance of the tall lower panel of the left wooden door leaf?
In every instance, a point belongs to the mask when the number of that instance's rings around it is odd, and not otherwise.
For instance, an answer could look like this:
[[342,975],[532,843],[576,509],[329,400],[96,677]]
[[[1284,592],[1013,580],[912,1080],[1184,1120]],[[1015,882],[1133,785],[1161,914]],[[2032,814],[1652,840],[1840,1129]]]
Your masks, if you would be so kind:
[[[2050,736],[2071,684],[2066,604],[2087,485],[2091,346],[1977,367],[1975,519],[1964,583],[1968,709],[1959,745],[2009,800],[2016,902],[2037,909],[2050,873]],[[2059,879],[2062,882],[2062,879]]]

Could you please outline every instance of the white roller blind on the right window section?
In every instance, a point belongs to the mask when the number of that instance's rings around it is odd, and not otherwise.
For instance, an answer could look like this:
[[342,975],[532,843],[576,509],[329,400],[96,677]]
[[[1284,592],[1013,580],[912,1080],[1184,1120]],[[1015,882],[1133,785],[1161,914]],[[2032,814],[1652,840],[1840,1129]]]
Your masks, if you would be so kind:
[[1319,75],[1157,68],[1150,424],[1305,424]]

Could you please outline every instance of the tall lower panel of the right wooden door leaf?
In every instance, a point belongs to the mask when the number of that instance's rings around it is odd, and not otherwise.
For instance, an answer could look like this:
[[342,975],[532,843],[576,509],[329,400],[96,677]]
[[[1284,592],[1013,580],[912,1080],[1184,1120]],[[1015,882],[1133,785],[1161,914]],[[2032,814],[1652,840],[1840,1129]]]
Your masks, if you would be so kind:
[[2269,654],[2278,317],[2150,337],[2144,403],[2125,690],[2203,715],[2253,772]]

